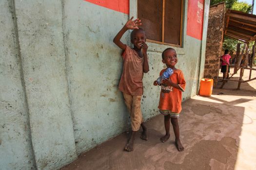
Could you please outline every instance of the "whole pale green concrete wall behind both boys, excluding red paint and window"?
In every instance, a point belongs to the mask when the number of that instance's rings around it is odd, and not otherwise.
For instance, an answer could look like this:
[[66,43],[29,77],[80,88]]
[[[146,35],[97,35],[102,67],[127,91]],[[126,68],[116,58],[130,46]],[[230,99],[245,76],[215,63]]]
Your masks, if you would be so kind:
[[[207,27],[209,0],[205,0]],[[112,42],[131,16],[82,0],[0,1],[0,167],[58,169],[99,143],[129,129],[118,82],[121,51]],[[183,100],[197,94],[205,43],[187,36],[184,2],[183,47],[177,68],[187,81]],[[206,29],[203,30],[203,38]],[[130,44],[129,33],[122,41]],[[158,115],[159,87],[169,47],[148,43],[144,75],[144,119]]]

